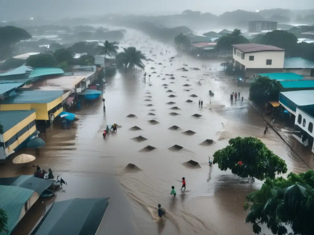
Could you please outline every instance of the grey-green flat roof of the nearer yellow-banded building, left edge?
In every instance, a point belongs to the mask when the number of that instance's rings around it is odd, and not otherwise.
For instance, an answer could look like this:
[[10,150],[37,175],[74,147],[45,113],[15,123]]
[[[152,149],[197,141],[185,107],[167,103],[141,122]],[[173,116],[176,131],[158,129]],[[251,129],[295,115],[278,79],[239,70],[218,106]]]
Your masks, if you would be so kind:
[[6,132],[19,122],[34,113],[35,110],[13,110],[0,111],[0,124],[3,125],[3,131]]

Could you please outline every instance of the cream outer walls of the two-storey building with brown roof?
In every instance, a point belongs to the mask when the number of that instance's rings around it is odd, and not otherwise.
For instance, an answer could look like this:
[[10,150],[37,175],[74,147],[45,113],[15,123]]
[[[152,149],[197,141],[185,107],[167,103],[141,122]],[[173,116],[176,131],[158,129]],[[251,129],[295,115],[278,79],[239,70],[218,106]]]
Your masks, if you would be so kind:
[[[242,54],[244,54],[244,60],[241,58]],[[249,56],[254,56],[254,60],[249,60]],[[242,51],[236,49],[236,54],[233,53],[233,59],[237,60],[242,65],[245,65],[246,69],[284,68],[284,51],[259,51],[243,53]],[[272,64],[266,65],[266,60],[272,60]]]

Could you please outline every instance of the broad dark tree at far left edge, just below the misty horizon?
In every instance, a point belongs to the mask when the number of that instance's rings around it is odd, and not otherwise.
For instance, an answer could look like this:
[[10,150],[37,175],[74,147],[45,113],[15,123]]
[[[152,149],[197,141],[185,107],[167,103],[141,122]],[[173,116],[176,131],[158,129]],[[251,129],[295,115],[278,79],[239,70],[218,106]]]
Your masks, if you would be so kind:
[[0,27],[0,60],[7,59],[14,44],[32,36],[26,30],[14,26]]

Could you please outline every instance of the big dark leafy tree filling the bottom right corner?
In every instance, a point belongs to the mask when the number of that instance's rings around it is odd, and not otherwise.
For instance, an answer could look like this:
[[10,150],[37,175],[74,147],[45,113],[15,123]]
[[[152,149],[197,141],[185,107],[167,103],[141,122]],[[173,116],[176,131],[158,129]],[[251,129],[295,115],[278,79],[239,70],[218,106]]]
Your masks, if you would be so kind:
[[253,231],[261,232],[259,225],[266,224],[273,234],[287,234],[291,227],[294,234],[312,235],[314,211],[314,171],[299,175],[290,173],[265,180],[262,188],[247,196],[244,209],[250,209],[246,223],[253,224]]

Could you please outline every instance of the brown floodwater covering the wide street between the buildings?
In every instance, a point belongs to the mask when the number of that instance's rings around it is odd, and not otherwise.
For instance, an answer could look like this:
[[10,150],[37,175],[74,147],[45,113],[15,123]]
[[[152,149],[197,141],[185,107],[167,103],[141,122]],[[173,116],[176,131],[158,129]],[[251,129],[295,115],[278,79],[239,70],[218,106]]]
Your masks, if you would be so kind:
[[[264,135],[265,122],[245,100],[230,103],[230,93],[240,92],[246,99],[248,88],[239,88],[221,72],[223,60],[179,55],[169,62],[177,54],[174,48],[133,30],[128,30],[120,46],[136,46],[154,61],[145,62],[145,71],[117,74],[107,81],[106,112],[99,100],[77,112],[79,120],[71,129],[52,127],[42,134],[46,146],[33,164],[51,168],[68,185],[56,198],[39,200],[13,234],[27,234],[52,201],[74,197],[111,197],[98,234],[253,234],[252,225],[244,222],[243,203],[262,182],[241,179],[216,165],[210,167],[208,156],[236,136],[260,138],[286,161],[289,172],[308,170],[311,155],[300,159],[272,130]],[[188,71],[177,70],[182,67]],[[214,97],[208,90],[214,91]],[[203,100],[202,107],[199,100]],[[129,114],[136,117],[128,118]],[[104,139],[102,131],[113,123],[119,125],[117,133]],[[174,125],[179,128],[169,129]],[[141,129],[130,130],[134,126]],[[188,130],[195,133],[183,133]],[[138,136],[143,138],[134,139]],[[205,145],[206,139],[214,143]],[[144,149],[148,145],[155,149]],[[189,160],[199,166],[185,164]],[[34,170],[31,165],[21,168],[7,163],[0,165],[0,176],[32,174]],[[187,184],[184,193],[180,190],[182,177]],[[170,195],[172,185],[176,197]],[[158,203],[167,212],[164,221],[158,219]],[[263,233],[271,234],[264,227]]]

